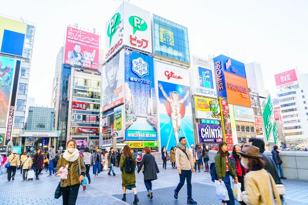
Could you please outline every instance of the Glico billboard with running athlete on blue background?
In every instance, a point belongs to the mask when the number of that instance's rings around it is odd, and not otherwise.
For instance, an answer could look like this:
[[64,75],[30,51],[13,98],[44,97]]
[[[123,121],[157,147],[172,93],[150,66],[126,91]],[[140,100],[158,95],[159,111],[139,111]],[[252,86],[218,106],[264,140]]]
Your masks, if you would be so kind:
[[[187,147],[195,144],[192,125],[189,71],[185,68],[154,61],[158,80],[158,107],[161,147],[169,152],[185,137]],[[170,73],[172,72],[172,75]]]

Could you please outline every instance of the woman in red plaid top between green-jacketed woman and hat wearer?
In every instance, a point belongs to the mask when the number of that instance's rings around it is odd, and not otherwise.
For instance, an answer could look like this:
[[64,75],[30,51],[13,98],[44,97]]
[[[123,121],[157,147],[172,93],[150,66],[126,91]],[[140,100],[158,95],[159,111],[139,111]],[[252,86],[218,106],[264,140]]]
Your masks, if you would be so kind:
[[[230,156],[230,162],[233,169],[236,171],[238,176],[238,180],[241,183],[241,191],[243,192],[244,189],[244,177],[247,173],[247,169],[244,168],[241,164],[241,155],[239,152],[241,151],[241,147],[239,145],[233,146],[232,156]],[[246,204],[244,201],[240,202],[242,205]]]

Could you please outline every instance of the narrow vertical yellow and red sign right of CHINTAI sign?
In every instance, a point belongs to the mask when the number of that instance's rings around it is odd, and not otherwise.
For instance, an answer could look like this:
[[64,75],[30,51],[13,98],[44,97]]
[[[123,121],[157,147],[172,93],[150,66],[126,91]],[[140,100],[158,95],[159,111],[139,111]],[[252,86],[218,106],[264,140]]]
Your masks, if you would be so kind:
[[232,128],[231,128],[231,120],[230,120],[230,113],[229,113],[229,105],[228,105],[228,98],[226,97],[219,97],[219,105],[221,112],[221,124],[222,124],[222,131],[224,141],[228,146],[228,150],[233,150],[233,137],[232,137]]

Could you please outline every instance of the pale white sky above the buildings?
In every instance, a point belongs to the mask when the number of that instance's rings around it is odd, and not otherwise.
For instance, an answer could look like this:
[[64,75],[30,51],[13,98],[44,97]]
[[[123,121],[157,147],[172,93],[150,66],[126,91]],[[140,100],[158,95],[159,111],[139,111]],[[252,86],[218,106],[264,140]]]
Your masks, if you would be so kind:
[[[308,1],[130,0],[151,13],[188,28],[190,54],[227,55],[261,64],[265,89],[276,95],[274,74],[297,68],[308,73]],[[49,106],[56,55],[66,27],[95,28],[105,47],[105,25],[119,0],[6,1],[0,13],[36,26],[28,96]]]

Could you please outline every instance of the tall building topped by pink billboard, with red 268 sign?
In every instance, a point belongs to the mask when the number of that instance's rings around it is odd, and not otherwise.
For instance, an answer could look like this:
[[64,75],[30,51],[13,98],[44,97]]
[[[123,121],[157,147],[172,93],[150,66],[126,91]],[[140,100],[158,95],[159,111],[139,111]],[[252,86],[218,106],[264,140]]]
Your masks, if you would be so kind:
[[65,149],[70,139],[82,150],[99,146],[100,55],[99,35],[67,27],[66,43],[56,57],[51,101],[59,148]]

